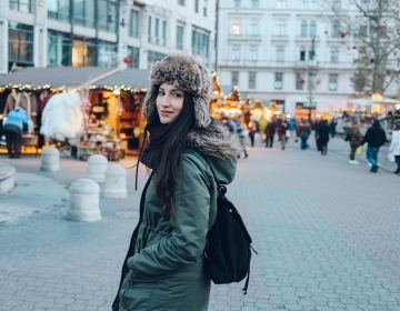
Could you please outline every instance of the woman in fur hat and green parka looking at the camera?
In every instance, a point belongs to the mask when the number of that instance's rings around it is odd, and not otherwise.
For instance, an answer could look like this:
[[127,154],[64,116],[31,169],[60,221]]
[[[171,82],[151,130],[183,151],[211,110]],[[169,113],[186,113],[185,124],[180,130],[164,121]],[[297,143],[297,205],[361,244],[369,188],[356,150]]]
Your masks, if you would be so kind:
[[203,250],[218,194],[212,171],[230,183],[241,147],[211,120],[211,74],[194,58],[166,57],[150,83],[142,108],[149,142],[140,161],[152,173],[112,309],[207,310],[211,281]]

